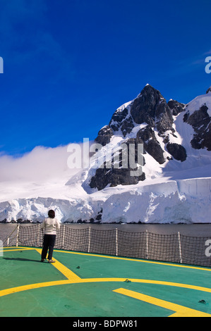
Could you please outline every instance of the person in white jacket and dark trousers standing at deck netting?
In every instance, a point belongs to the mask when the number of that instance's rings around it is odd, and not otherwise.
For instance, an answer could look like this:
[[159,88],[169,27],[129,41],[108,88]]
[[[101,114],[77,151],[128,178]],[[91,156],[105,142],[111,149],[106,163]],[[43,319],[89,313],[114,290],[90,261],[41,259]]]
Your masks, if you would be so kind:
[[41,224],[41,228],[44,229],[44,240],[43,240],[43,247],[42,247],[42,254],[41,254],[41,262],[44,262],[47,251],[49,250],[48,260],[49,263],[54,263],[55,261],[52,260],[53,251],[54,251],[54,244],[56,240],[56,230],[59,230],[60,223],[57,218],[55,218],[55,212],[50,210],[48,212],[48,218],[45,218]]

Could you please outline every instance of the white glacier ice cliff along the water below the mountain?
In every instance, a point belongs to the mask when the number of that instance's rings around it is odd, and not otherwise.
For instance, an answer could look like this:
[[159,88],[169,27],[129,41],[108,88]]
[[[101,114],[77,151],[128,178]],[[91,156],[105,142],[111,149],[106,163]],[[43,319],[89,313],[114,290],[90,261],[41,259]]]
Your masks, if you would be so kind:
[[[211,177],[105,188],[72,199],[31,197],[0,202],[0,219],[42,222],[49,208],[63,222],[210,223]],[[61,193],[61,192],[60,192]],[[97,194],[98,193],[98,194]]]

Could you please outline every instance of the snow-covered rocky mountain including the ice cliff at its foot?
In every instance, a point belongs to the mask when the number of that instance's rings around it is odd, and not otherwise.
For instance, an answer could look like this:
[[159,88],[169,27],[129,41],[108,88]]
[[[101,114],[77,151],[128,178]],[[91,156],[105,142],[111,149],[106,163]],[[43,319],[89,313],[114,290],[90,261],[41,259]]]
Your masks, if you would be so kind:
[[146,85],[98,132],[88,168],[1,182],[0,220],[40,221],[54,208],[62,222],[210,223],[210,119],[211,88],[181,104]]

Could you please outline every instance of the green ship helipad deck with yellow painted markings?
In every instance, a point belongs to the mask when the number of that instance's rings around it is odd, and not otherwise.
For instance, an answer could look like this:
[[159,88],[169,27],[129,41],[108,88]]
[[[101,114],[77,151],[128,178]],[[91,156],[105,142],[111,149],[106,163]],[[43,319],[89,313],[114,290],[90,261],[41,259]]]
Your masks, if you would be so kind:
[[54,259],[4,248],[1,317],[211,316],[211,268],[59,250]]

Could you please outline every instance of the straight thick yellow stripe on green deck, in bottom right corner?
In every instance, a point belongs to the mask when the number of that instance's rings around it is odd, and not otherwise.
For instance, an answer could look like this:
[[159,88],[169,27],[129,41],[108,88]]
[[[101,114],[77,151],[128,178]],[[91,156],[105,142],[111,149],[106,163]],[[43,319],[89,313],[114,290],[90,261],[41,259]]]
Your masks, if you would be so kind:
[[196,311],[195,309],[187,308],[185,306],[180,306],[179,304],[173,304],[169,301],[164,301],[157,299],[153,296],[148,296],[142,293],[131,291],[129,289],[114,289],[113,292],[120,293],[126,296],[131,296],[134,299],[145,301],[148,304],[153,304],[162,308],[169,309],[169,311],[175,311],[169,317],[210,317],[208,313],[203,313],[203,311]]

